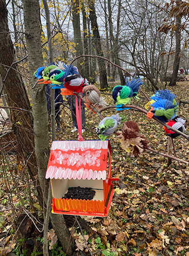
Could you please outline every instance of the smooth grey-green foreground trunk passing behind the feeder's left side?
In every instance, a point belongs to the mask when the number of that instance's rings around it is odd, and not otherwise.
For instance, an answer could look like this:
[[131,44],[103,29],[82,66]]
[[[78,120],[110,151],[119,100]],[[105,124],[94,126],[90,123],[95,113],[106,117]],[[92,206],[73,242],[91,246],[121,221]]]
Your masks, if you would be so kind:
[[[40,13],[38,0],[23,0],[23,16],[25,21],[25,32],[28,63],[30,69],[31,85],[34,84],[33,73],[36,68],[43,66],[42,47],[40,40]],[[45,182],[45,172],[49,160],[49,122],[44,87],[37,85],[32,90],[32,107],[34,117],[35,151],[38,164],[39,181],[47,202],[49,183]],[[51,214],[53,228],[67,255],[73,255],[74,242],[70,240],[70,234],[65,226],[62,215]]]

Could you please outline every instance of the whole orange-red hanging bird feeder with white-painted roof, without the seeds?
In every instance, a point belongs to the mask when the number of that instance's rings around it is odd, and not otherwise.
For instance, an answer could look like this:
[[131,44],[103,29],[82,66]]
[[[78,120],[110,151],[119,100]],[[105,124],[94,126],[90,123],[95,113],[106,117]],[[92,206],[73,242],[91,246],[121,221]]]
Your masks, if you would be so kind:
[[[113,196],[111,146],[106,141],[54,141],[46,179],[51,179],[52,212],[107,216]],[[107,162],[108,160],[108,162]],[[92,200],[62,199],[69,187],[92,188]]]

